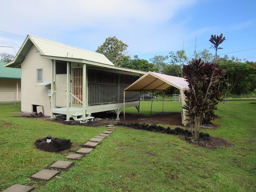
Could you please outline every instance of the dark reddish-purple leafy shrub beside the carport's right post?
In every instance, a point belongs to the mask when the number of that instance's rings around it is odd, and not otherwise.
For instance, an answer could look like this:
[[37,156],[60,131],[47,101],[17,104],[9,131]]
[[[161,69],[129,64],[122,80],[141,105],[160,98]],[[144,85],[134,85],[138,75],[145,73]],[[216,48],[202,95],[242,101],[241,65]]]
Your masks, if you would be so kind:
[[204,63],[201,59],[184,65],[182,72],[188,82],[189,90],[184,91],[186,104],[182,106],[189,117],[193,138],[198,140],[200,127],[205,116],[212,116],[221,98],[219,84],[224,70],[216,63]]

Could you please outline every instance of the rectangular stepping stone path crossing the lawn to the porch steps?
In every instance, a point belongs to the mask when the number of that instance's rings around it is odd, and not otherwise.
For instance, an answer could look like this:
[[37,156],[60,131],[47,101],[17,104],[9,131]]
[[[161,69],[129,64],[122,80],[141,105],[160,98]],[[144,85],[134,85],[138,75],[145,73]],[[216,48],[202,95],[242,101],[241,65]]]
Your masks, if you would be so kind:
[[[69,154],[66,156],[67,159],[72,160],[80,160],[82,157],[84,157],[85,154],[90,153],[98,144],[100,141],[102,141],[104,138],[108,137],[112,132],[114,132],[116,129],[114,128],[114,125],[106,125],[108,129],[98,136],[95,136],[94,138],[90,139],[90,141],[86,142],[81,149],[77,150],[76,153]],[[70,168],[74,162],[72,161],[62,161],[59,160],[52,164],[50,168],[58,168],[66,170],[67,168]],[[55,170],[49,170],[49,169],[42,169],[39,172],[33,174],[30,178],[36,180],[36,181],[48,181],[54,176],[56,176],[59,172]],[[57,177],[57,176],[56,176]],[[10,186],[6,190],[3,190],[2,192],[30,192],[33,190],[34,187],[26,186],[26,185],[20,185],[20,184],[14,184],[13,186]]]

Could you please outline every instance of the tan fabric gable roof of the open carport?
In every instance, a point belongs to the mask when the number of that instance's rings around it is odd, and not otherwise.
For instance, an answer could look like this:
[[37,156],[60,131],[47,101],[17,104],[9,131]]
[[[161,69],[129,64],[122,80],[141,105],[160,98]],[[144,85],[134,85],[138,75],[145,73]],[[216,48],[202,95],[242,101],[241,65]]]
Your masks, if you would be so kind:
[[149,71],[144,74],[144,76],[136,80],[133,84],[124,89],[124,91],[163,91],[170,88],[171,86],[174,86],[180,90],[186,90],[188,89],[188,82],[186,82],[186,79],[181,77]]

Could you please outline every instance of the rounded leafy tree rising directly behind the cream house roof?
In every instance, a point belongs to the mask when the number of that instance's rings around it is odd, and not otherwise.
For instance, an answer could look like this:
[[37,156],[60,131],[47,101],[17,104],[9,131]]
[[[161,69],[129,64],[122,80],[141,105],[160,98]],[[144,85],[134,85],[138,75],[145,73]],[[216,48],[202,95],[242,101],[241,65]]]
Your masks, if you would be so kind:
[[96,52],[104,54],[114,65],[119,66],[122,60],[129,57],[127,56],[127,47],[127,44],[114,36],[106,38],[105,42],[98,46]]

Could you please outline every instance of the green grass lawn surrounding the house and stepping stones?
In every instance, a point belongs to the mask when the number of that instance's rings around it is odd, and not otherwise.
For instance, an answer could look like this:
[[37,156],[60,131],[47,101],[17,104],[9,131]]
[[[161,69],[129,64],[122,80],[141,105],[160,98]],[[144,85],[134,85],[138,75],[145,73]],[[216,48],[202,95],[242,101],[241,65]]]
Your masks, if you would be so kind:
[[[140,112],[149,113],[150,105],[141,102]],[[180,103],[164,105],[164,111],[180,112]],[[153,102],[153,109],[162,112],[162,102]],[[234,147],[208,150],[178,136],[116,126],[96,149],[61,172],[61,178],[48,182],[34,182],[29,177],[65,160],[106,127],[66,126],[25,118],[17,111],[20,105],[0,103],[0,190],[18,183],[35,186],[35,192],[256,191],[256,105],[249,101],[220,103],[219,118],[213,122],[218,128],[202,130]],[[134,112],[134,108],[126,112]],[[37,150],[34,141],[48,134],[70,139],[75,147],[62,153]]]

